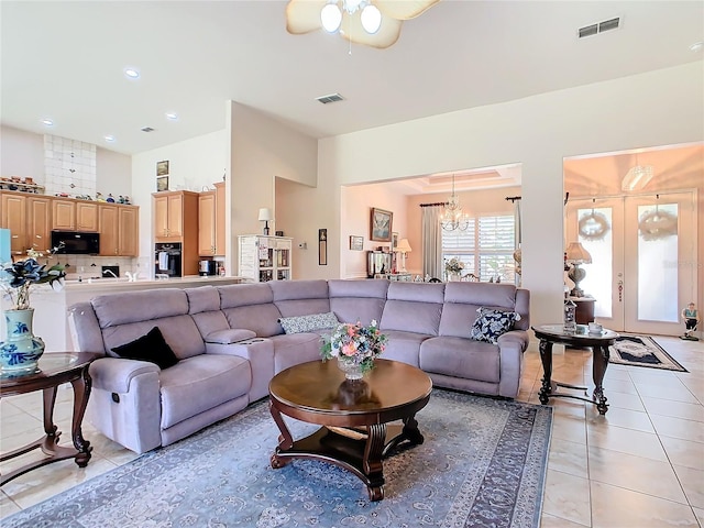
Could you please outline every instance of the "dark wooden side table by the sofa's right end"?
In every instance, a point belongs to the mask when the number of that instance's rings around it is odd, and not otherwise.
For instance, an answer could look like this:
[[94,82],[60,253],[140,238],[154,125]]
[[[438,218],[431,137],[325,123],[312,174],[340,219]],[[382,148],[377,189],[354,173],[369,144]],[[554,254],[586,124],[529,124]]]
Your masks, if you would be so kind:
[[[585,326],[578,324],[576,332],[565,332],[562,324],[541,324],[531,327],[536,337],[540,340],[540,361],[542,362],[542,386],[540,387],[540,403],[546,405],[550,397],[564,397],[582,399],[596,405],[600,415],[605,415],[608,410],[606,396],[604,396],[604,375],[608,366],[608,348],[614,344],[618,333],[613,330],[603,330],[598,334],[588,333]],[[594,380],[594,393],[592,398],[576,396],[573,394],[558,393],[558,387],[575,388],[585,392],[586,387],[569,385],[552,381],[552,344],[562,343],[566,346],[591,348],[594,354],[592,361],[592,377]]]

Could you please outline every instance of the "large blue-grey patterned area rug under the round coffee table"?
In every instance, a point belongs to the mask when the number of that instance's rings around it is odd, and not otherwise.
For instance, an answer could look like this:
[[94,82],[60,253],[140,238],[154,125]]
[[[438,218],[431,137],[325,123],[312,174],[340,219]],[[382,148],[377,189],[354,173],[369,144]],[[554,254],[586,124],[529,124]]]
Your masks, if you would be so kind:
[[[260,402],[2,526],[539,527],[551,407],[435,389],[417,419],[425,443],[385,460],[381,502],[331,464],[273,470],[278,429]],[[317,429],[288,421],[295,438]]]

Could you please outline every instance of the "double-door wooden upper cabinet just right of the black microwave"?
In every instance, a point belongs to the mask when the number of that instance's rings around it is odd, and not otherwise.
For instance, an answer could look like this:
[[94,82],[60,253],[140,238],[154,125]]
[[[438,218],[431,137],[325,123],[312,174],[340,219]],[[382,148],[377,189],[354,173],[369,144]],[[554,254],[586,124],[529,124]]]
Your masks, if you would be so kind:
[[100,255],[136,256],[139,253],[140,208],[136,206],[98,207]]

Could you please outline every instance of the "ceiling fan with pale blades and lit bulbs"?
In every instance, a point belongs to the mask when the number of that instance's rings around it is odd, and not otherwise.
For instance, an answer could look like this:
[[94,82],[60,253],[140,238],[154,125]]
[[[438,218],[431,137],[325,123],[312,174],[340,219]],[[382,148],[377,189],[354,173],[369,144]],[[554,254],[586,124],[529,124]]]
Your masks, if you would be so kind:
[[299,35],[316,30],[372,47],[385,48],[400,35],[404,20],[415,19],[440,0],[289,0],[286,30]]

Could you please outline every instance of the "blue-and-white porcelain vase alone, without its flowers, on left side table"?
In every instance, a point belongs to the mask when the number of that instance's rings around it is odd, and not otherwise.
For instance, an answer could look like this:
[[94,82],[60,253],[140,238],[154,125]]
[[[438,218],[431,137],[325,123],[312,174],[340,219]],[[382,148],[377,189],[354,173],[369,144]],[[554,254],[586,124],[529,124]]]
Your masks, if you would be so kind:
[[44,341],[32,333],[34,309],[7,310],[4,321],[7,338],[0,341],[0,370],[23,372],[36,370],[44,353]]

